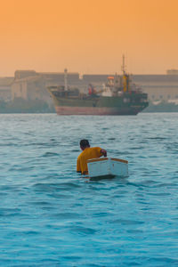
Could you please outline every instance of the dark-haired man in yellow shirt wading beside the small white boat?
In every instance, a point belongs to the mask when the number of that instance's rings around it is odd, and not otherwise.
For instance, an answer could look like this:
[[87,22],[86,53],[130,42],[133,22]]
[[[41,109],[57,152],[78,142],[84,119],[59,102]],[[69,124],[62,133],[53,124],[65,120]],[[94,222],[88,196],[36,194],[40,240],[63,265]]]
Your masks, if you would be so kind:
[[88,140],[80,141],[80,149],[83,152],[77,158],[77,173],[88,174],[87,160],[91,158],[107,157],[107,151],[99,147],[91,148]]

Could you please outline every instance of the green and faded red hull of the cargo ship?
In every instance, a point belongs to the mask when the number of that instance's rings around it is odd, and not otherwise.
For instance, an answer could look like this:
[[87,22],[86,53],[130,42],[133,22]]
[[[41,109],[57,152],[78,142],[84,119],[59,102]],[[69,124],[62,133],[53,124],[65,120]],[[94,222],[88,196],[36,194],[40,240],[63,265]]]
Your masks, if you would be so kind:
[[51,91],[58,115],[137,115],[148,107],[146,93],[123,93],[122,96],[61,96]]

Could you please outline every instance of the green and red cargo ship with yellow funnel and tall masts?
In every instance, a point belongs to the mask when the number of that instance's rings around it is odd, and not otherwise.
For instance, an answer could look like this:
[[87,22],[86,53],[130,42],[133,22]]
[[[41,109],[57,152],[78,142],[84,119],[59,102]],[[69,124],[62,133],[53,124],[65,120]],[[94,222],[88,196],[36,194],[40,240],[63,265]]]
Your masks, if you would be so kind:
[[64,85],[48,86],[53,97],[58,115],[137,115],[148,107],[148,95],[132,84],[130,76],[108,77],[108,81],[100,90],[93,85],[88,86],[87,93],[71,88],[67,82],[67,69],[64,71]]

